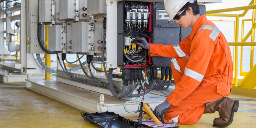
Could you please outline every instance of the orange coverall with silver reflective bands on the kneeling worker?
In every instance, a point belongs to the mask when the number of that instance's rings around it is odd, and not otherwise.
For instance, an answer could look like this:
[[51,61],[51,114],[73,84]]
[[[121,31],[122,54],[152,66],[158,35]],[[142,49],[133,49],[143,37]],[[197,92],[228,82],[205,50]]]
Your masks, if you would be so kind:
[[165,119],[176,120],[177,124],[195,124],[203,115],[205,103],[228,96],[232,89],[229,45],[205,15],[178,45],[150,44],[149,53],[173,58],[171,67],[176,88],[166,98],[171,107],[164,114]]

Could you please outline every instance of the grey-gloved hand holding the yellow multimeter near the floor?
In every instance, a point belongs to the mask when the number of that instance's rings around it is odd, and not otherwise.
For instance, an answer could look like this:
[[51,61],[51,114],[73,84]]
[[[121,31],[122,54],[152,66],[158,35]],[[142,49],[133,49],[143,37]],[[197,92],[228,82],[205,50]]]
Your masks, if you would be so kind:
[[156,106],[155,110],[153,111],[153,113],[157,116],[163,119],[163,115],[164,113],[166,113],[169,108],[170,108],[171,104],[165,100],[162,104],[159,104]]

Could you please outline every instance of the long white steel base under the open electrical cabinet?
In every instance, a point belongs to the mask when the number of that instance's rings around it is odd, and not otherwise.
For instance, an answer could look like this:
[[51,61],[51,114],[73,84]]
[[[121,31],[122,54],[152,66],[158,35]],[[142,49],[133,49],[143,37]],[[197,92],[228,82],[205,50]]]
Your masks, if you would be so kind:
[[[137,115],[125,111],[124,103],[127,100],[104,95],[103,102],[100,102],[101,93],[57,82],[56,80],[27,79],[26,88],[89,113],[111,111],[122,116]],[[138,110],[141,98],[134,103],[127,103],[127,109],[129,111]],[[148,102],[152,108],[155,108],[165,99],[165,96],[149,93],[145,95],[144,103]]]

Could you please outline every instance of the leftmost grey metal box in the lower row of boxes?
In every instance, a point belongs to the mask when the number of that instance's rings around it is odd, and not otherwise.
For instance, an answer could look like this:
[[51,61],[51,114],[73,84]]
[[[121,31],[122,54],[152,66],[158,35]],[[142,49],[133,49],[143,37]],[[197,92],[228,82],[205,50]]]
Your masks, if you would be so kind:
[[62,25],[49,26],[49,50],[62,51]]

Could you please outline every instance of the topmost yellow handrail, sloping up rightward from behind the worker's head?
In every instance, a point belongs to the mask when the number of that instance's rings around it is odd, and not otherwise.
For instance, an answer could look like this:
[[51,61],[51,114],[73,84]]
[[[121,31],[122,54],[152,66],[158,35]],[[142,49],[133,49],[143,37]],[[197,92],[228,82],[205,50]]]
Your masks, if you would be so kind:
[[249,5],[249,6],[242,6],[242,7],[236,7],[236,8],[227,8],[227,9],[206,11],[206,14],[221,13],[221,12],[233,12],[233,11],[249,10],[249,9],[255,9],[255,8],[256,8],[256,5]]

